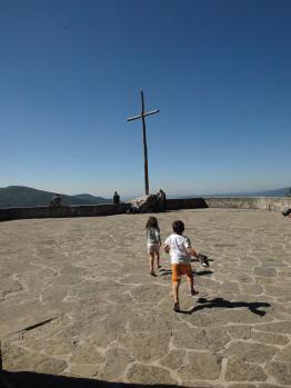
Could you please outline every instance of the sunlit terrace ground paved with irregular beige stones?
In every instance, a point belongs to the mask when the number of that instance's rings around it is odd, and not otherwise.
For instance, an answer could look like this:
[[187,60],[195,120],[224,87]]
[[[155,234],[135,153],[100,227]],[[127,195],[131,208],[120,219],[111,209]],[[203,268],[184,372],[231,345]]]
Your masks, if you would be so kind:
[[171,301],[169,259],[149,276],[148,215],[0,223],[3,369],[187,387],[291,387],[291,220],[203,209],[182,219],[200,298]]

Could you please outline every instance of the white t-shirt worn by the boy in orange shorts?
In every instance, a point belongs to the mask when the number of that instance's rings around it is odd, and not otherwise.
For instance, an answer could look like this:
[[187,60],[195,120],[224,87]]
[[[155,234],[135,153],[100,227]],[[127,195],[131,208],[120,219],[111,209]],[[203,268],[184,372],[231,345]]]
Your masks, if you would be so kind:
[[170,247],[171,263],[190,263],[191,255],[187,249],[191,248],[191,242],[188,237],[172,233],[170,235],[164,245]]

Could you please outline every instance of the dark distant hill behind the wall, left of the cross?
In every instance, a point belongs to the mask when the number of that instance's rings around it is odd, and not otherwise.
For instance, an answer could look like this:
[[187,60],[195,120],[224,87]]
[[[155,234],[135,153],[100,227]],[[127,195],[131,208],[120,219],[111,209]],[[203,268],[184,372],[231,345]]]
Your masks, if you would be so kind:
[[[47,206],[54,192],[32,189],[24,186],[9,186],[0,188],[0,208],[17,208],[17,207],[32,207]],[[94,197],[82,193],[77,196],[66,196],[60,193],[62,205],[101,205],[111,203],[110,199],[102,197]]]

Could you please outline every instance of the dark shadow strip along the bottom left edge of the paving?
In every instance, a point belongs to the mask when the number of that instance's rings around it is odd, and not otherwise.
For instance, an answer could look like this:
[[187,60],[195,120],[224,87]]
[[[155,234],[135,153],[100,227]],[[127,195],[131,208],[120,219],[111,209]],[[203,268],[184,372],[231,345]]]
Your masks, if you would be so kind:
[[[1,388],[175,388],[175,385],[155,384],[132,384],[132,382],[110,382],[88,378],[53,376],[46,374],[34,374],[31,371],[0,371]],[[182,386],[179,386],[183,388]],[[184,387],[185,388],[185,387]]]

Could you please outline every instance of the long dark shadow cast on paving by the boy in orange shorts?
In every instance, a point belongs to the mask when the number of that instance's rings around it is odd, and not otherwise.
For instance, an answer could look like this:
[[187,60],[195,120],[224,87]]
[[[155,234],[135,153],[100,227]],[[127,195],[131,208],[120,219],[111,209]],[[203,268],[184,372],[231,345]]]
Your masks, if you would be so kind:
[[261,307],[270,307],[271,305],[268,302],[260,302],[260,301],[253,301],[253,302],[247,302],[247,301],[229,301],[223,298],[214,298],[211,300],[208,300],[205,298],[199,298],[197,300],[200,306],[194,306],[189,311],[182,311],[182,314],[193,314],[194,311],[202,310],[204,308],[215,308],[215,307],[223,307],[223,308],[239,308],[239,307],[247,307],[251,312],[255,314],[257,316],[263,317],[267,312],[259,310]]

